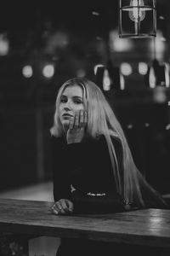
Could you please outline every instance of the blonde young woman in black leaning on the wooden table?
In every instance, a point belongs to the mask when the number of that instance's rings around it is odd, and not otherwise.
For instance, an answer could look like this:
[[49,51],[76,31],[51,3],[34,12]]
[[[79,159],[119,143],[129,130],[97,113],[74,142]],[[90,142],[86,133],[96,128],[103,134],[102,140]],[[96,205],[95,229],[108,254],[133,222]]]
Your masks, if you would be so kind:
[[[121,125],[92,81],[75,78],[61,86],[51,134],[54,214],[166,207],[135,166]],[[96,253],[96,248],[98,253],[106,250],[101,242],[75,244],[75,240],[63,240],[58,255],[80,255],[82,247],[88,255]]]

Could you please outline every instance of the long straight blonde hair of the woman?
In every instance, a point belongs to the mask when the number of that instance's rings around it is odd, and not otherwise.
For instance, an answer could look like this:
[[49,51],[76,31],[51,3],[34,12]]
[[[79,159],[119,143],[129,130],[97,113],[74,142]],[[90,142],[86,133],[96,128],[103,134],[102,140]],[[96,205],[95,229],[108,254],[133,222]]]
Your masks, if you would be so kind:
[[[94,82],[88,79],[74,78],[63,84],[58,92],[55,104],[54,125],[51,128],[51,134],[54,137],[61,137],[63,128],[59,121],[59,100],[63,91],[67,86],[79,85],[83,91],[83,102],[85,109],[88,111],[87,134],[90,137],[97,138],[104,135],[109,153],[111,156],[111,165],[113,175],[116,181],[116,191],[121,195],[125,203],[134,202],[139,207],[144,207],[144,200],[140,190],[140,184],[144,185],[145,189],[151,192],[153,198],[161,201],[161,197],[157,195],[156,190],[144,180],[142,174],[133,162],[131,150],[128,147],[127,139],[122,131],[122,126],[116,119],[116,115],[106,101],[104,94]],[[122,172],[118,166],[116,158],[116,150],[111,141],[114,137],[122,145]]]

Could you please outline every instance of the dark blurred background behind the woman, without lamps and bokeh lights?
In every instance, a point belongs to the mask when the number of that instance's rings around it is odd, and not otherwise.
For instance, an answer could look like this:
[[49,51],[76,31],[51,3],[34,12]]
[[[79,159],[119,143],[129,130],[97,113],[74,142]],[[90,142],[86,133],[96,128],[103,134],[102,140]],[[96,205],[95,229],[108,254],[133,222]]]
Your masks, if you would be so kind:
[[[157,1],[157,30],[165,46],[161,61],[167,63],[169,14],[169,1]],[[79,69],[95,82],[94,65],[110,60],[114,67],[122,62],[133,67],[124,77],[125,90],[112,88],[105,96],[122,124],[135,163],[156,189],[170,192],[169,89],[163,90],[165,102],[154,101],[156,90],[150,90],[146,76],[138,73],[139,61],[150,65],[153,60],[153,39],[131,39],[132,49],[116,51],[109,38],[111,31],[118,38],[117,29],[118,1],[1,3],[0,34],[9,42],[8,54],[0,55],[1,190],[51,179],[49,129],[57,90]],[[47,63],[55,67],[51,79],[42,76]],[[26,79],[22,68],[28,64],[33,76]]]

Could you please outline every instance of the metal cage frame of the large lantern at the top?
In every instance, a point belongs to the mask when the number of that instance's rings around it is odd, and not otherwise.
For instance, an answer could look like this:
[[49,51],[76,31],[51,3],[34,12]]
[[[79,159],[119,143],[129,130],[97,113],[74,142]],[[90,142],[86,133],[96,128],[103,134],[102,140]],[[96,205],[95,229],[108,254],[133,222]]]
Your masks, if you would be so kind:
[[[152,3],[152,5],[140,5],[140,1],[141,0],[136,0],[135,1],[135,5],[123,5],[122,3],[124,0],[119,0],[119,22],[118,22],[118,29],[119,29],[119,38],[153,38],[156,37],[156,0],[150,0],[150,3]],[[145,0],[143,0],[145,2]],[[129,0],[130,2],[130,0]],[[137,4],[136,4],[137,3]],[[123,28],[122,28],[122,14],[123,12],[127,12],[127,11],[131,11],[133,12],[135,9],[135,11],[137,10],[137,21],[133,21],[134,22],[134,32],[123,32]],[[150,10],[152,12],[152,32],[141,32],[141,20],[140,20],[140,12],[145,11],[145,14],[147,15],[147,11]],[[129,18],[130,20],[130,18]]]

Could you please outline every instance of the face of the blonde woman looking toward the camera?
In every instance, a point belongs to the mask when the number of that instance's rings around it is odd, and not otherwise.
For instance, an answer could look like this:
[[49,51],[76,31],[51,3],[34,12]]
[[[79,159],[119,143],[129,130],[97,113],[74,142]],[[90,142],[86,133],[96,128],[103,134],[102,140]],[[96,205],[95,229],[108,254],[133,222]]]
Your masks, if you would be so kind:
[[64,130],[70,125],[70,119],[84,109],[82,88],[78,85],[67,86],[59,99],[59,120]]

